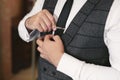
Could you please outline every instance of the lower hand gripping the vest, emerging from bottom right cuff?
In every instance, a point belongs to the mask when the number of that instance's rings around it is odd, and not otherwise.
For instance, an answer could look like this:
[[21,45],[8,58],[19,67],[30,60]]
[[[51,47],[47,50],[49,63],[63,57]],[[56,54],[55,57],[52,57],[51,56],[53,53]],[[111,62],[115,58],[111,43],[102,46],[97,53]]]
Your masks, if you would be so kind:
[[38,39],[36,43],[38,44],[37,50],[41,53],[40,56],[57,67],[64,53],[64,47],[60,37],[57,35],[46,35],[44,40]]

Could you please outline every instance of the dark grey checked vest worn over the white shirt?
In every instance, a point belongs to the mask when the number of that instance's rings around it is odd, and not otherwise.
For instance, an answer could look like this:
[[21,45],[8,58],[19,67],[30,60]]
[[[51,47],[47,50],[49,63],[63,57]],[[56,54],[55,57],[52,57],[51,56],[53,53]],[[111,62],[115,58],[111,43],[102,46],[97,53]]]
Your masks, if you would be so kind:
[[[53,13],[56,3],[57,0],[45,0],[43,9]],[[113,0],[87,0],[61,37],[66,53],[87,63],[110,66],[103,35],[112,3]],[[42,58],[38,72],[39,80],[72,80]]]

